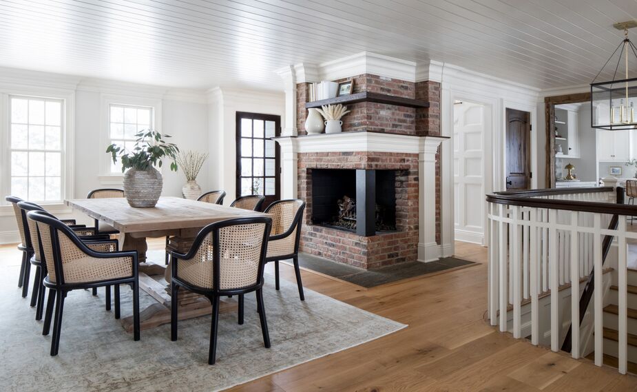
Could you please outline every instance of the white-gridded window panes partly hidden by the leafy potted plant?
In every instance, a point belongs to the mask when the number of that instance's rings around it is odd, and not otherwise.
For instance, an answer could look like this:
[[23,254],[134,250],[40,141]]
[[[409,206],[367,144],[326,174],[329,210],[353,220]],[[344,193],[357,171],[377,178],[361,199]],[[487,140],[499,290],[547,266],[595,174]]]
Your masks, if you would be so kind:
[[[153,128],[153,107],[109,104],[107,144],[115,143],[132,151],[136,134]],[[122,166],[111,161],[110,172],[121,174]]]

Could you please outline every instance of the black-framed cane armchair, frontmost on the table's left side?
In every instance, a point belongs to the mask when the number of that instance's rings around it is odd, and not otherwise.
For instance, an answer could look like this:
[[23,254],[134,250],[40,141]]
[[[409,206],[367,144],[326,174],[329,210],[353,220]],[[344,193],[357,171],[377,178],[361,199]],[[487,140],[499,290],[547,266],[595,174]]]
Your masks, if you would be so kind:
[[[49,214],[32,211],[28,218],[35,220],[38,228],[40,254],[45,259],[48,276],[44,286],[49,289],[43,335],[48,335],[53,306],[55,318],[51,355],[57,355],[60,347],[64,299],[69,291],[93,287],[131,285],[133,289],[134,340],[139,340],[139,283],[136,251],[102,253],[87,247],[66,225]],[[115,311],[119,316],[119,290],[115,290]]]

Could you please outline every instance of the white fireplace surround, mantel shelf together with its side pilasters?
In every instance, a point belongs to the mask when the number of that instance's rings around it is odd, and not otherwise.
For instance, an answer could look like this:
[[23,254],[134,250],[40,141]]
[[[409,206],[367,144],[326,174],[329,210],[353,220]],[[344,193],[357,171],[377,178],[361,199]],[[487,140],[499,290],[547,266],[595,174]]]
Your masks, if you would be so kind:
[[409,136],[381,132],[341,132],[272,138],[281,146],[282,198],[297,197],[298,154],[311,152],[391,152],[418,154],[418,260],[438,260],[436,243],[436,152],[448,136]]

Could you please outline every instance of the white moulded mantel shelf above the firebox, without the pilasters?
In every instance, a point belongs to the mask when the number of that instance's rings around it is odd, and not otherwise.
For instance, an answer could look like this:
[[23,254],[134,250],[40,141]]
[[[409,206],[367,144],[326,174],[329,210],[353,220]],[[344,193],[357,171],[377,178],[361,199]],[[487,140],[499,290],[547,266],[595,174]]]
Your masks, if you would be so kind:
[[272,138],[282,149],[307,152],[398,152],[419,154],[427,147],[437,148],[448,136],[410,136],[382,132],[340,132]]

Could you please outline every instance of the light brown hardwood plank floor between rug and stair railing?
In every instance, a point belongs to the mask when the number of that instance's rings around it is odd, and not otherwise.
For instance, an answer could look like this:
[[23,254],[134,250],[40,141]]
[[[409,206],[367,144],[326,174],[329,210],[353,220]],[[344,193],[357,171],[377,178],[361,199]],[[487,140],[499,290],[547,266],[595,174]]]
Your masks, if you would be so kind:
[[[161,247],[162,239],[149,241],[149,249]],[[0,265],[19,262],[14,249],[0,247]],[[637,392],[634,376],[534,347],[490,327],[483,320],[486,255],[484,247],[457,243],[455,256],[481,265],[373,289],[302,271],[305,287],[409,327],[230,391]],[[282,278],[293,281],[293,269],[281,268]]]

